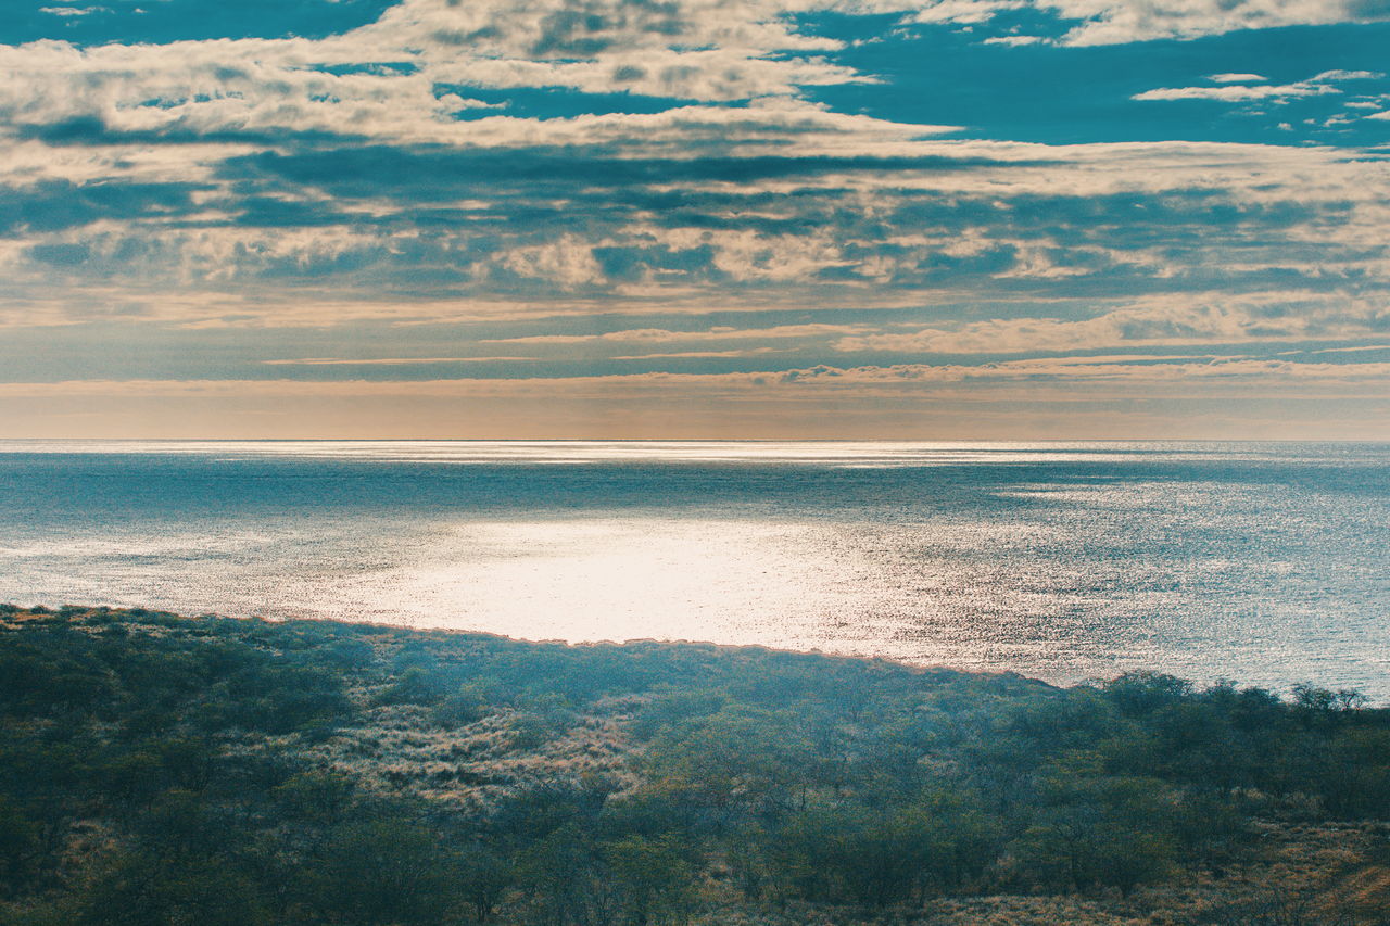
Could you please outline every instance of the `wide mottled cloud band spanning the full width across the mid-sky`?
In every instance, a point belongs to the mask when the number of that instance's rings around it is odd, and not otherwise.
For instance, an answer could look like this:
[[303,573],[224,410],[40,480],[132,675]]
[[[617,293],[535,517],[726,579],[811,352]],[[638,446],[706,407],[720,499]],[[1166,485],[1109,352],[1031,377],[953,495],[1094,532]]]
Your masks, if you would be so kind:
[[865,147],[335,146],[236,154],[197,184],[43,179],[0,195],[14,235],[0,267],[11,304],[58,284],[74,313],[138,303],[150,321],[296,325],[1390,282],[1390,165],[1375,160],[1194,143]]

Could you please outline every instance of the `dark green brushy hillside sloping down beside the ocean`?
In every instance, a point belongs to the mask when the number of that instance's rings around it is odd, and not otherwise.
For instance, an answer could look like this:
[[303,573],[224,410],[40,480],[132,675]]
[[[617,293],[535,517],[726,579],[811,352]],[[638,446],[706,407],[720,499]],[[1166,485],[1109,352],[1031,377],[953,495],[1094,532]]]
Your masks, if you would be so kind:
[[0,920],[1390,923],[1354,692],[0,608]]

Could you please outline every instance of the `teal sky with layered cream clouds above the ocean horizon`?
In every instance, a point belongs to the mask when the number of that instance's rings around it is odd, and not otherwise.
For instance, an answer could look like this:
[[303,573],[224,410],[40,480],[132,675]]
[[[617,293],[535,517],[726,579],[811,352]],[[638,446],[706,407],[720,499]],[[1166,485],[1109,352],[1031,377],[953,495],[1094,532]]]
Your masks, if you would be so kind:
[[0,437],[1390,439],[1390,0],[4,0]]

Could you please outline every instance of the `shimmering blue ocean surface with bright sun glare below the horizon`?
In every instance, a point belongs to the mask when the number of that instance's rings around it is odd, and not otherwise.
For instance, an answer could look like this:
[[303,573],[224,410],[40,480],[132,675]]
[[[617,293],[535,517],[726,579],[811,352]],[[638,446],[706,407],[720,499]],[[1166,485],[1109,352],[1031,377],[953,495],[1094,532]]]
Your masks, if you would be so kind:
[[0,601],[1390,702],[1390,445],[0,441]]

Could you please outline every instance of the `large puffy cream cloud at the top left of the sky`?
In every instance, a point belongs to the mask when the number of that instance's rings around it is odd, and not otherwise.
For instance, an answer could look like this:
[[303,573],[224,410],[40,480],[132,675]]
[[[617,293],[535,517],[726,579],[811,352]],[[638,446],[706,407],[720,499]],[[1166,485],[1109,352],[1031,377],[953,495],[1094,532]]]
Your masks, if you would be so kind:
[[[63,10],[75,10],[64,7]],[[359,133],[467,143],[466,89],[573,88],[671,100],[791,97],[873,81],[816,53],[777,3],[406,0],[324,39],[0,46],[0,115],[17,125],[95,120],[107,132]],[[802,107],[810,111],[812,107]],[[507,124],[493,129],[506,131]]]

